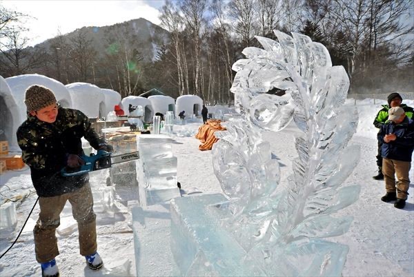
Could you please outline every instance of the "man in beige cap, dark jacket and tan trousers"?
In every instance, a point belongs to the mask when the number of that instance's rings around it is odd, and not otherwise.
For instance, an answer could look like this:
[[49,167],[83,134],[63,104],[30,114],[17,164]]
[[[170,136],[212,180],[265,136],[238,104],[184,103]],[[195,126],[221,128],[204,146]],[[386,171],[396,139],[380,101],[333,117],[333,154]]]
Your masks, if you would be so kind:
[[[382,142],[382,172],[386,194],[381,200],[396,201],[394,207],[402,209],[408,195],[411,156],[414,150],[414,121],[408,119],[402,107],[388,110],[388,121],[381,126],[378,141]],[[395,191],[397,174],[397,191]]]

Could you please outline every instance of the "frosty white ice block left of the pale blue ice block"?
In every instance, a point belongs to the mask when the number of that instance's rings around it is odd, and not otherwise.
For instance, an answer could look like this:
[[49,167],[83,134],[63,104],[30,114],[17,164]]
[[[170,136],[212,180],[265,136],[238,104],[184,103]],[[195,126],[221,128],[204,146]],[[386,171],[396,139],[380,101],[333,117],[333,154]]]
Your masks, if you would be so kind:
[[140,207],[128,203],[134,232],[135,276],[179,276],[170,249],[168,205]]

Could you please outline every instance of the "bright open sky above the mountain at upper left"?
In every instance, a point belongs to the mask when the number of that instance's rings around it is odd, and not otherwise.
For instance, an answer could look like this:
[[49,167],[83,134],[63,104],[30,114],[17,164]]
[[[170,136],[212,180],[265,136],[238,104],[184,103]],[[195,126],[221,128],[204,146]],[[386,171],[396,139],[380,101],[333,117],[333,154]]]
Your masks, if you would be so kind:
[[30,15],[25,25],[30,28],[26,36],[28,45],[72,32],[83,26],[113,25],[142,17],[159,25],[159,8],[164,0],[0,0],[8,10]]

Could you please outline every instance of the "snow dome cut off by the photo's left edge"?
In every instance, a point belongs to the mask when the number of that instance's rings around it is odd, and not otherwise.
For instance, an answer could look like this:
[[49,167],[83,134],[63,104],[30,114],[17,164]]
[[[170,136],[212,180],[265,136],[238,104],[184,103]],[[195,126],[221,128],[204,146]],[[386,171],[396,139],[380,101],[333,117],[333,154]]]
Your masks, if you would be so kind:
[[10,149],[18,148],[16,131],[22,120],[12,90],[2,76],[0,76],[0,118],[0,141],[8,141]]

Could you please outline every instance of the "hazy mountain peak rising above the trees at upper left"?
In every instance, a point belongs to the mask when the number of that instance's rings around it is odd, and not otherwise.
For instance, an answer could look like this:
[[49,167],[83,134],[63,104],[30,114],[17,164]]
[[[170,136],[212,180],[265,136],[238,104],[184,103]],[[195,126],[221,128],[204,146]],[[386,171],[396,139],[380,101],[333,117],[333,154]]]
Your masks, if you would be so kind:
[[[129,50],[138,50],[143,61],[154,61],[159,46],[169,41],[167,30],[143,18],[103,27],[83,27],[63,34],[66,43],[73,43],[79,37],[91,41],[91,46],[98,52],[98,56],[110,52],[114,45],[126,45]],[[49,50],[54,40],[48,39],[35,45],[34,48],[41,47]]]

